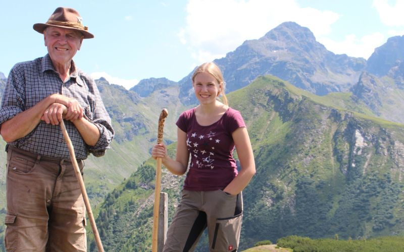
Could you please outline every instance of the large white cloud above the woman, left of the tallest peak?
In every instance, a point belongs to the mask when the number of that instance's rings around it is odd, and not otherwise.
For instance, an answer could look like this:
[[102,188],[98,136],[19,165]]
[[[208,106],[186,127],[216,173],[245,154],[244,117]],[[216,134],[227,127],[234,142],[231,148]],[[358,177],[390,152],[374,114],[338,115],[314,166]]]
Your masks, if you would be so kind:
[[328,34],[339,15],[300,8],[295,0],[190,0],[186,27],[178,33],[198,62],[225,56],[248,39],[258,39],[286,21]]

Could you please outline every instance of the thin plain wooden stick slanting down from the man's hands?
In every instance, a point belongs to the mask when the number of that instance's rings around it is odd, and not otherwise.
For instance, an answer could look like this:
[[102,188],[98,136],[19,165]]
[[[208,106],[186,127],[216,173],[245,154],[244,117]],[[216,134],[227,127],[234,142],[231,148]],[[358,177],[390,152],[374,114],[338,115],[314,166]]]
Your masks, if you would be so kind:
[[98,247],[98,251],[104,252],[103,244],[101,243],[101,239],[99,238],[97,226],[95,225],[94,216],[92,215],[90,201],[88,200],[87,192],[85,190],[83,177],[81,176],[80,168],[79,168],[79,165],[76,160],[76,155],[74,154],[73,144],[72,144],[72,141],[70,140],[69,134],[67,134],[65,122],[63,120],[60,122],[60,128],[62,130],[63,136],[65,137],[67,147],[69,148],[70,159],[72,161],[77,180],[79,181],[79,184],[80,184],[81,194],[83,195],[85,208],[87,209],[87,215],[88,215],[88,218],[90,219],[91,228],[92,228],[92,232],[94,234],[95,242]]

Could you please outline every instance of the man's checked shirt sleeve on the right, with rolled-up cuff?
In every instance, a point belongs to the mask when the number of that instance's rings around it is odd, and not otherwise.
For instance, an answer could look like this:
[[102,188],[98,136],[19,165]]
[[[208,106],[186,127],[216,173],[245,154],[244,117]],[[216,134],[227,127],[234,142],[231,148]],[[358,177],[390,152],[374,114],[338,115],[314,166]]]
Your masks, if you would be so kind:
[[92,102],[92,119],[89,119],[98,128],[99,139],[94,146],[87,146],[88,151],[92,155],[99,157],[105,154],[105,151],[110,148],[112,139],[114,138],[114,129],[112,128],[111,117],[104,106],[100,93],[94,80],[87,80],[89,91],[93,94],[94,101]]

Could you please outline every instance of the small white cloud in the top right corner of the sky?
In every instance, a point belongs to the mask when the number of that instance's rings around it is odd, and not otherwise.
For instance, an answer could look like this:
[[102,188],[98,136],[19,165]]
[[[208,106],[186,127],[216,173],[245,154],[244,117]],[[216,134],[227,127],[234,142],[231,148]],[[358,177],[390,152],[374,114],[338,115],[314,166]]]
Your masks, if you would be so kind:
[[396,0],[390,5],[388,0],[374,0],[373,7],[379,13],[380,20],[387,26],[403,26],[404,0]]

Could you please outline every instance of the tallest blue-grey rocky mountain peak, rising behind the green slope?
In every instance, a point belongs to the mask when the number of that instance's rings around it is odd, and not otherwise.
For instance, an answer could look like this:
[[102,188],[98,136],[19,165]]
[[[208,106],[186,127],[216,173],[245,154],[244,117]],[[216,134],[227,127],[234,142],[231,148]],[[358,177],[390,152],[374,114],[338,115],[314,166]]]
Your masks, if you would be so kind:
[[[308,28],[294,22],[282,23],[260,39],[245,41],[215,62],[223,72],[227,92],[270,74],[298,88],[325,95],[347,91],[366,67],[364,58],[328,51]],[[189,77],[179,82],[180,98],[185,104],[195,101]]]

